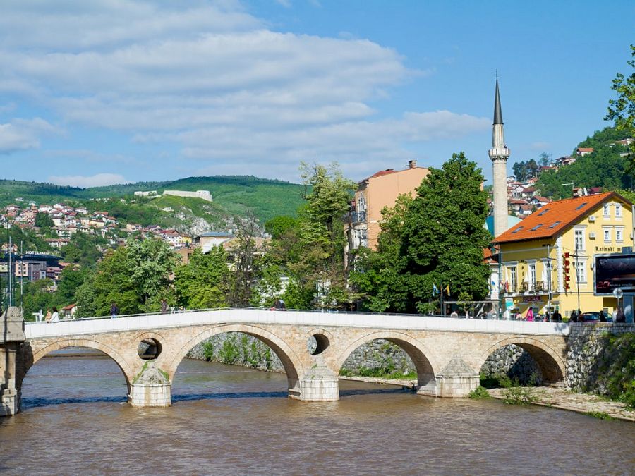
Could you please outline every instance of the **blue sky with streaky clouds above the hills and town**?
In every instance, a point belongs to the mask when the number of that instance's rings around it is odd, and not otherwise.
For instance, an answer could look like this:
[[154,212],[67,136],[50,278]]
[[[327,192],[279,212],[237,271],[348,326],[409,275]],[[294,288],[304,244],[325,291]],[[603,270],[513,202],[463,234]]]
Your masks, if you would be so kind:
[[361,180],[464,151],[507,164],[610,125],[632,1],[2,0],[0,178]]

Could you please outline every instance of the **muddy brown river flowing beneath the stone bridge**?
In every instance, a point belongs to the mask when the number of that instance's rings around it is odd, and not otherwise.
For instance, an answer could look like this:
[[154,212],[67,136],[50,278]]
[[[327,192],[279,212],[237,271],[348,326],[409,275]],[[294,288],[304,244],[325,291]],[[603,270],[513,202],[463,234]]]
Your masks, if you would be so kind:
[[[59,355],[59,353],[58,353]],[[0,472],[632,475],[635,425],[500,401],[341,381],[341,400],[286,397],[286,377],[184,360],[171,408],[131,408],[107,357],[44,358],[23,411],[0,418]]]

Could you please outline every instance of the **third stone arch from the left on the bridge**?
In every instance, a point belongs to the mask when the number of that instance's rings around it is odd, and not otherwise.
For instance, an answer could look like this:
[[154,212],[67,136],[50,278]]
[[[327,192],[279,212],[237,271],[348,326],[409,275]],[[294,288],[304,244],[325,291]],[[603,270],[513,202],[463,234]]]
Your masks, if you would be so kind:
[[417,371],[417,386],[419,389],[428,389],[430,393],[435,393],[436,373],[439,370],[435,356],[432,351],[421,341],[409,336],[403,332],[397,331],[375,331],[367,334],[347,346],[335,360],[335,371],[337,374],[341,371],[341,367],[353,350],[363,346],[365,343],[375,341],[377,339],[385,339],[404,350],[411,358]]

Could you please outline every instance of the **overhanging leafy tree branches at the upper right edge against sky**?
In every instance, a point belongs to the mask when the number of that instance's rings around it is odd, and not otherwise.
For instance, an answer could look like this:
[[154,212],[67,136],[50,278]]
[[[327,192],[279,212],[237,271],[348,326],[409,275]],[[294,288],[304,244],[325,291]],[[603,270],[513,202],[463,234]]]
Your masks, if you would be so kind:
[[[629,66],[635,70],[635,44],[631,44],[631,56]],[[622,73],[617,73],[611,89],[617,93],[617,99],[609,100],[609,107],[605,121],[614,121],[617,130],[627,130],[631,137],[635,137],[635,71],[624,78]],[[631,171],[635,170],[635,154],[631,144]]]

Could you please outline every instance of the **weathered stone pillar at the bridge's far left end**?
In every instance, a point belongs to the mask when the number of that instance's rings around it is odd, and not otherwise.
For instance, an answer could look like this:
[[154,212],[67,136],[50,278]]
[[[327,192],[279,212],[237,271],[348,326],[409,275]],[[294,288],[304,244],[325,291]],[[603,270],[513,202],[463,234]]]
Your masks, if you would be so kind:
[[20,410],[16,353],[25,340],[22,314],[17,307],[9,307],[0,319],[0,416],[15,415]]

